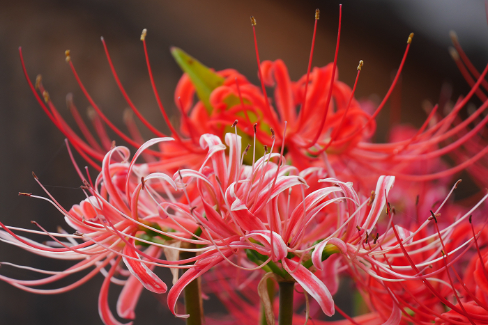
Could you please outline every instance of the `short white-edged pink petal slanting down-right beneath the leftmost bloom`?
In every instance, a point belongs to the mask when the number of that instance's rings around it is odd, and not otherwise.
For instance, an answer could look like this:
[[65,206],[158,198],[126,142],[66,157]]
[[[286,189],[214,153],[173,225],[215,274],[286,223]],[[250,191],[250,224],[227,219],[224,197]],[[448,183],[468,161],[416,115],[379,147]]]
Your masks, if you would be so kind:
[[[132,239],[132,244],[134,240]],[[134,248],[130,247],[129,245],[125,245],[123,248],[123,253],[130,257],[134,257],[140,260],[139,254],[134,250]],[[146,267],[146,264],[143,262],[139,262],[137,260],[131,260],[128,258],[123,257],[123,262],[129,269],[130,273],[135,276],[144,287],[156,294],[164,294],[168,289],[166,283],[162,282],[158,276],[156,276],[153,271]]]

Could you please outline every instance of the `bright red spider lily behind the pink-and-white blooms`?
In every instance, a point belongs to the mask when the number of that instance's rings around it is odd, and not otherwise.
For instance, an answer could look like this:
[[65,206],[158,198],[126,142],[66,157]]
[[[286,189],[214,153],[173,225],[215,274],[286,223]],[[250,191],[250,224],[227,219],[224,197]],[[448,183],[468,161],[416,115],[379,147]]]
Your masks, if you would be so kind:
[[[317,12],[314,35],[317,30],[318,19],[319,15]],[[435,106],[424,125],[418,129],[418,132],[411,134],[409,138],[384,144],[370,143],[369,138],[375,129],[374,118],[383,109],[393,88],[395,88],[399,74],[406,61],[406,54],[409,51],[413,35],[409,36],[405,54],[392,86],[374,113],[370,114],[353,97],[358,79],[356,79],[356,83],[352,89],[337,80],[336,63],[340,42],[340,22],[334,62],[326,67],[314,68],[312,70],[312,54],[315,39],[313,38],[307,74],[298,81],[291,81],[286,65],[280,60],[275,62],[263,61],[261,63],[257,51],[255,19],[252,19],[252,25],[261,87],[250,84],[242,74],[239,74],[235,70],[213,72],[183,51],[172,49],[176,60],[186,72],[183,74],[175,92],[176,106],[181,111],[181,129],[179,130],[172,127],[169,123],[169,118],[158,95],[147,55],[146,30],[143,31],[141,40],[143,41],[144,52],[146,54],[151,86],[160,111],[171,130],[171,136],[175,138],[174,143],[160,145],[159,151],[147,150],[144,157],[148,162],[152,161],[160,168],[176,171],[178,167],[181,168],[181,166],[178,166],[178,164],[181,164],[181,162],[178,162],[180,161],[179,158],[184,156],[185,166],[198,166],[202,161],[201,159],[205,157],[204,150],[201,150],[198,144],[201,134],[212,133],[223,138],[225,132],[229,130],[228,125],[236,119],[240,120],[239,132],[241,136],[245,136],[245,139],[249,141],[253,136],[253,125],[256,122],[258,123],[260,132],[257,134],[257,150],[262,153],[262,148],[259,143],[265,143],[269,146],[272,142],[268,129],[271,127],[277,131],[277,141],[280,143],[282,140],[280,138],[282,125],[286,120],[289,123],[285,139],[287,158],[293,161],[294,166],[302,170],[311,165],[330,165],[333,171],[335,171],[336,176],[340,176],[342,179],[353,180],[358,186],[359,184],[366,188],[374,186],[377,177],[382,173],[386,173],[386,171],[388,171],[389,175],[395,175],[399,180],[415,182],[448,177],[462,171],[464,168],[471,168],[473,172],[485,173],[482,161],[485,159],[488,146],[476,143],[476,138],[479,137],[478,133],[488,120],[487,118],[482,120],[476,119],[485,111],[488,105],[484,100],[486,96],[482,97],[480,95],[482,93],[480,86],[487,86],[485,75],[488,72],[488,68],[485,68],[482,73],[479,73],[462,56],[464,63],[468,66],[469,72],[474,77],[474,79],[471,77],[471,79],[468,79],[472,89],[466,97],[455,104],[448,116],[444,118],[436,116],[437,106]],[[102,42],[116,84],[119,86],[128,105],[137,118],[155,136],[164,136],[162,132],[155,129],[139,113],[135,104],[130,100],[118,74],[116,74],[105,40],[102,39]],[[90,114],[91,120],[102,145],[98,145],[94,136],[90,134],[86,125],[84,125],[71,97],[68,96],[68,106],[86,141],[77,136],[73,129],[63,120],[50,101],[49,95],[43,88],[40,79],[36,83],[36,88],[43,95],[47,105],[41,100],[40,95],[36,93],[36,89],[31,84],[25,68],[24,73],[33,93],[36,95],[38,102],[45,110],[47,116],[66,135],[75,150],[91,166],[100,170],[100,165],[97,163],[97,160],[102,161],[111,143],[105,133],[105,125],[136,148],[143,143],[142,137],[135,126],[134,120],[132,120],[131,114],[125,114],[125,122],[130,135],[124,134],[113,125],[91,98],[84,84],[82,84],[82,80],[75,70],[69,51],[66,53],[66,61],[73,70],[75,79],[80,88],[82,88],[84,95],[89,100],[91,106],[93,106],[93,111]],[[358,75],[361,66],[362,61],[358,67]],[[271,106],[268,96],[264,92],[265,86],[275,86],[273,106]],[[195,93],[199,96],[199,102],[194,105],[193,97]],[[473,95],[478,95],[484,104],[467,120],[460,121],[457,118],[457,114],[466,106]],[[300,107],[300,111],[296,113],[298,107]],[[317,123],[318,121],[321,122]],[[468,126],[471,122],[476,122],[476,125],[470,130]],[[452,125],[452,123],[455,125]],[[442,146],[449,138],[455,138],[455,140],[448,145]],[[462,154],[458,154],[459,150],[462,150]],[[457,166],[446,167],[441,171],[420,171],[420,173],[412,173],[409,170],[411,164],[427,164],[427,161],[432,161],[432,159],[437,157],[453,153],[458,162]],[[369,175],[370,177],[365,175]]]

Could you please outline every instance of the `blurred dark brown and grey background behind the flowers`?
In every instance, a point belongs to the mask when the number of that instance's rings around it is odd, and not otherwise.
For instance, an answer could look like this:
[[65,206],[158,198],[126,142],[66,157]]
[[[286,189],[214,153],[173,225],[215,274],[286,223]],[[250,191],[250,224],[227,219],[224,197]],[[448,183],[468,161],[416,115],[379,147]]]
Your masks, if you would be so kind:
[[[73,93],[75,104],[83,113],[89,103],[64,61],[66,49],[71,50],[73,63],[93,99],[115,125],[125,130],[122,115],[127,104],[109,71],[100,42],[100,35],[103,35],[132,101],[153,125],[167,131],[148,80],[144,50],[139,40],[142,29],[148,29],[146,41],[155,83],[163,104],[172,112],[176,109],[173,92],[181,70],[169,53],[170,46],[181,47],[216,70],[235,68],[258,84],[249,19],[254,15],[261,60],[282,58],[291,79],[297,80],[307,69],[315,8],[320,8],[321,19],[313,65],[323,66],[333,61],[339,3],[335,0],[1,0],[1,222],[33,229],[30,221],[36,220],[48,230],[56,230],[57,225],[62,225],[68,232],[73,231],[64,224],[61,214],[45,201],[17,196],[19,191],[43,194],[31,177],[31,171],[36,172],[67,209],[84,198],[63,135],[45,116],[26,84],[18,56],[19,46],[22,46],[31,81],[35,81],[37,74],[43,75],[52,101],[70,125],[75,127],[66,109],[66,94]],[[488,27],[485,4],[481,0],[344,0],[342,4],[339,78],[352,86],[358,61],[365,61],[356,90],[358,98],[381,100],[402,59],[409,33],[415,33],[402,73],[402,92],[398,93],[402,122],[419,127],[426,116],[422,104],[425,100],[435,104],[443,85],[452,86],[454,100],[468,93],[468,86],[448,54],[451,29],[457,31],[459,41],[476,67],[482,70],[486,64]],[[377,141],[384,141],[388,133],[388,107],[377,119]],[[114,134],[109,134],[117,144],[123,144]],[[143,135],[146,139],[151,136],[144,131]],[[76,158],[84,166],[82,159]],[[461,191],[471,191],[464,186]],[[62,270],[70,265],[3,243],[0,243],[0,261],[49,270]],[[165,271],[160,274],[168,276]],[[2,267],[0,275],[33,278],[31,272],[11,267]],[[59,285],[71,282],[73,278],[68,278],[68,282]],[[0,322],[102,324],[97,309],[101,283],[102,276],[99,275],[66,294],[39,296],[0,281]],[[112,285],[113,312],[119,290]],[[347,283],[343,285],[344,290],[349,291]],[[336,299],[339,306],[352,312],[350,300],[343,296]],[[183,324],[171,315],[161,300],[165,298],[143,292],[135,324]]]

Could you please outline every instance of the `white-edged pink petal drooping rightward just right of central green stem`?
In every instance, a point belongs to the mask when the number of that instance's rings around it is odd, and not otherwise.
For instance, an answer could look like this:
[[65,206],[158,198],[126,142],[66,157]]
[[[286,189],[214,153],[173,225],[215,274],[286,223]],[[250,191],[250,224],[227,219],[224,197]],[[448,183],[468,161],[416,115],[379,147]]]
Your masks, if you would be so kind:
[[[298,264],[293,260],[289,260],[287,258],[282,259],[282,265],[289,274],[298,282],[310,296],[314,297],[314,299],[319,303],[319,306],[322,308],[322,311],[327,316],[334,315],[334,300],[332,299],[332,295],[330,294],[329,290],[327,289],[326,285],[323,284],[317,276],[315,276],[312,272],[310,272],[306,267],[302,264]],[[295,271],[296,267],[298,270]],[[295,271],[292,273],[292,270]]]

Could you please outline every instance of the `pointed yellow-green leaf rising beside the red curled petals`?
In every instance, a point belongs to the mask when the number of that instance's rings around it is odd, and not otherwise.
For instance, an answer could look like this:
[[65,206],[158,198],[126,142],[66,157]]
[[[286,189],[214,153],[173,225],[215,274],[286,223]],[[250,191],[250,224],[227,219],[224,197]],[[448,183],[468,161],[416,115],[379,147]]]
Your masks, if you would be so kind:
[[181,70],[188,74],[207,113],[211,114],[213,107],[210,104],[210,94],[215,88],[224,84],[224,78],[178,47],[171,47],[171,54]]

